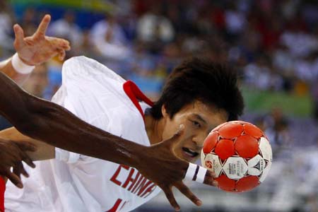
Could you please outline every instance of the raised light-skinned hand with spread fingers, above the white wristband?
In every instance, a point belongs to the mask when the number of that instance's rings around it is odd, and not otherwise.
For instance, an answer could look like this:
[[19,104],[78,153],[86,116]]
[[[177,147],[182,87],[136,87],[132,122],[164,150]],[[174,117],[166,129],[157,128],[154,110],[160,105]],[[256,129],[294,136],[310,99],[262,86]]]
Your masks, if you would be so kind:
[[50,20],[51,16],[45,15],[37,31],[30,37],[24,37],[23,29],[20,25],[16,24],[13,26],[16,35],[14,48],[25,64],[30,66],[42,64],[57,54],[59,55],[59,59],[63,60],[65,51],[71,49],[67,40],[45,36]]

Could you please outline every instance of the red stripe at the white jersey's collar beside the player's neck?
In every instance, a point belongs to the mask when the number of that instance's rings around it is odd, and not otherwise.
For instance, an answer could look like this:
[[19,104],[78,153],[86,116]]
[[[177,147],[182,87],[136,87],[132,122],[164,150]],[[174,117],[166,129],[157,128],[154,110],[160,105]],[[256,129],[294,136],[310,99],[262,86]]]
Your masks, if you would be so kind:
[[149,100],[146,95],[144,95],[141,90],[136,86],[136,84],[133,81],[126,81],[124,83],[124,92],[126,95],[128,95],[129,99],[134,103],[136,108],[139,110],[141,116],[143,119],[145,119],[145,114],[143,114],[143,110],[141,109],[141,106],[139,105],[139,100],[146,102],[147,105],[153,107],[153,101]]

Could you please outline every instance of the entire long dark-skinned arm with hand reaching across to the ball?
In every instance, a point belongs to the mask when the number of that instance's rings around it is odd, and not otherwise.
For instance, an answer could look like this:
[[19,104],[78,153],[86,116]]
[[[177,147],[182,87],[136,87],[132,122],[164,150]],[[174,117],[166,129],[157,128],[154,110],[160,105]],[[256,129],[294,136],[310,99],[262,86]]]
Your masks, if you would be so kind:
[[[172,151],[174,144],[182,139],[182,129],[157,145],[141,146],[83,122],[53,102],[25,93],[3,73],[0,73],[0,113],[18,131],[33,139],[67,151],[136,167],[163,189],[176,210],[179,206],[172,187],[177,187],[194,204],[201,205],[182,182],[189,163],[177,158]],[[204,183],[214,184],[213,173],[206,172]]]

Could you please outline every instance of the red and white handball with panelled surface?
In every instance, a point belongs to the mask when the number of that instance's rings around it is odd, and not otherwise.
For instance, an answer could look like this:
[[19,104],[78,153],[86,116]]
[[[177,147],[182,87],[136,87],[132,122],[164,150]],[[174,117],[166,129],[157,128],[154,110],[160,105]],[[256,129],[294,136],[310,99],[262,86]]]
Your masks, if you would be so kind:
[[247,192],[264,181],[272,163],[269,140],[254,124],[225,122],[204,141],[201,163],[216,173],[218,187],[228,192]]

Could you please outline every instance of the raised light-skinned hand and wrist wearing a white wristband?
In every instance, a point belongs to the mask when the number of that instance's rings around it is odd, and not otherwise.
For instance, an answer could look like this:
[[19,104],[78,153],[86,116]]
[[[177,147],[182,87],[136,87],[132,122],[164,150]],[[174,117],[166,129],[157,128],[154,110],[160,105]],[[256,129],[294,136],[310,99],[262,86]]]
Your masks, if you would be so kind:
[[34,66],[42,64],[56,55],[59,55],[59,59],[63,60],[65,51],[70,49],[67,40],[45,36],[50,20],[51,16],[46,15],[37,31],[30,37],[24,37],[20,25],[13,26],[16,36],[13,45],[17,53],[10,59],[0,62],[0,71],[6,73],[16,83],[23,83]]

